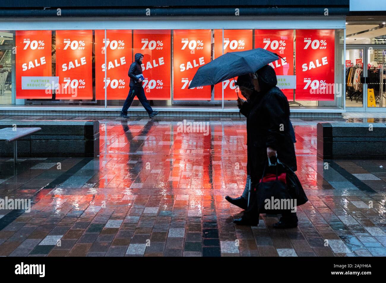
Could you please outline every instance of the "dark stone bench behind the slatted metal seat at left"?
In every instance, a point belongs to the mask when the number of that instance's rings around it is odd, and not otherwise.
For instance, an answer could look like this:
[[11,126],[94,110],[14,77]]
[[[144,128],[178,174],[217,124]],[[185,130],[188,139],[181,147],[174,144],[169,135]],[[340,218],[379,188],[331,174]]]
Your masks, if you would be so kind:
[[[19,157],[96,157],[99,155],[98,121],[0,120],[7,127],[39,127],[41,131],[17,142]],[[12,144],[0,141],[0,157],[12,157]]]

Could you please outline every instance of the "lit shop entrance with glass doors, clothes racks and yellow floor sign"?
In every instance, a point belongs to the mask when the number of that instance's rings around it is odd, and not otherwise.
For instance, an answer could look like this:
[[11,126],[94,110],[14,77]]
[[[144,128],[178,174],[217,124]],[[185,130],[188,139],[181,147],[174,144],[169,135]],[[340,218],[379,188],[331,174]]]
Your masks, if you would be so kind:
[[350,1],[346,18],[346,110],[386,112],[386,13],[384,2]]

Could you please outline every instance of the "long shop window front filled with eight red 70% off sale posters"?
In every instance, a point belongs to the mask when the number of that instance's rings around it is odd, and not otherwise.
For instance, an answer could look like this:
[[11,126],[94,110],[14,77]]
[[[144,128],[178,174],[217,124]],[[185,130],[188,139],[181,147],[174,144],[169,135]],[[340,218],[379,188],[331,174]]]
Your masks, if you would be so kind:
[[[226,52],[264,48],[292,112],[345,112],[345,16],[0,18],[0,110],[119,111],[144,54],[160,111],[238,112],[235,79],[188,89]],[[133,108],[143,109],[138,100]]]

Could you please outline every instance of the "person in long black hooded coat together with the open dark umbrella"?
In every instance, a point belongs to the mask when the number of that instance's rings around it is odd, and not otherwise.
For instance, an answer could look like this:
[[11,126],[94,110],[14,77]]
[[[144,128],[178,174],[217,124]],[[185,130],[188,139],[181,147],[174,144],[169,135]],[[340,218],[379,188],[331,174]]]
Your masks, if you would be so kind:
[[[240,111],[243,114],[248,113],[247,172],[249,172],[253,184],[257,184],[261,179],[264,164],[270,157],[277,156],[290,169],[296,171],[295,148],[289,134],[288,100],[283,92],[276,87],[275,71],[267,65],[278,59],[279,55],[262,48],[228,52],[201,66],[189,86],[192,89],[203,85],[215,85],[233,77],[253,74],[254,89],[249,88],[251,90],[249,101],[243,102],[239,99]],[[248,77],[244,78],[248,80]],[[281,131],[282,128],[283,131]],[[269,170],[267,173],[270,173]],[[248,187],[250,188],[250,186]],[[255,194],[252,195],[255,196]],[[251,226],[258,224],[259,212],[256,199],[255,197],[251,201],[242,218],[234,219],[234,223]],[[241,200],[240,203],[242,202]],[[275,228],[297,226],[296,214],[282,214],[282,216],[280,221],[274,224]]]

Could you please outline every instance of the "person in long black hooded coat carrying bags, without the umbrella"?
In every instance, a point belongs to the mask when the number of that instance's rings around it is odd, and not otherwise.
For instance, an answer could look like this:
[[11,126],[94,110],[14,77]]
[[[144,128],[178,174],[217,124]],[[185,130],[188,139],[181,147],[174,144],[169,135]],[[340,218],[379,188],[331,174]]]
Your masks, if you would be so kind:
[[[259,183],[268,157],[277,154],[278,159],[296,171],[296,156],[290,134],[289,104],[286,96],[276,87],[277,79],[274,69],[266,65],[254,74],[253,91],[249,102],[240,106],[240,112],[247,112],[247,144],[248,166],[252,188]],[[281,166],[279,171],[284,170]],[[275,173],[274,166],[266,167],[267,173]],[[284,172],[284,171],[283,171]],[[280,172],[279,172],[280,173]],[[241,225],[257,225],[259,213],[256,197],[252,196],[250,205],[240,219],[234,223]],[[282,215],[275,228],[297,226],[296,213]]]

